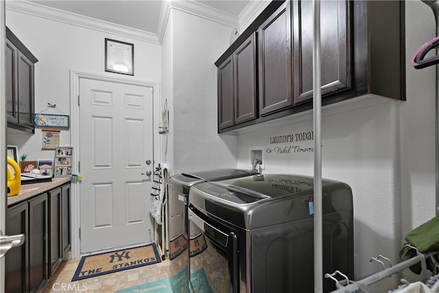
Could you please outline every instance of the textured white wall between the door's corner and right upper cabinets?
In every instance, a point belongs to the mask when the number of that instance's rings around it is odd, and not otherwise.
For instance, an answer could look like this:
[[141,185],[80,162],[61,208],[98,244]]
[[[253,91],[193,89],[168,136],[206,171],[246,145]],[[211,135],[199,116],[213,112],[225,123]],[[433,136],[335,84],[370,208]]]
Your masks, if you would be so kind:
[[171,174],[236,167],[237,138],[217,134],[214,65],[228,48],[232,28],[177,9],[172,10],[171,18],[174,48],[171,54],[174,92]]

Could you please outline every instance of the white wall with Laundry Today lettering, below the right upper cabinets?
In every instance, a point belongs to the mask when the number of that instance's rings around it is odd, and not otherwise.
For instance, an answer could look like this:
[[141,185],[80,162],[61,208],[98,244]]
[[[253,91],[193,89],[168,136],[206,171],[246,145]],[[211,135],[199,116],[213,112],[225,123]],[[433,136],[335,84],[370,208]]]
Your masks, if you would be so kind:
[[[398,263],[403,237],[436,212],[435,73],[433,67],[410,65],[414,52],[435,36],[434,17],[420,1],[405,5],[407,102],[383,99],[383,104],[322,118],[322,176],[353,189],[357,278],[380,269],[371,257],[383,255]],[[289,145],[312,148],[312,140],[270,143],[271,137],[312,131],[310,118],[240,134],[238,167],[249,167],[250,148],[260,147],[264,173],[312,176],[313,152],[276,152]],[[392,289],[389,283],[377,284],[376,292]]]

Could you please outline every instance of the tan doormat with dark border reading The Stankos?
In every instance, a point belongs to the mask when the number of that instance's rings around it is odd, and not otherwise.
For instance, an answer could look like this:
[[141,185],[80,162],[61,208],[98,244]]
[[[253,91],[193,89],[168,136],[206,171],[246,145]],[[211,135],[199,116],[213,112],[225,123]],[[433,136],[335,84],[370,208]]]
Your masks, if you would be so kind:
[[131,268],[139,268],[159,262],[161,262],[161,257],[154,243],[109,253],[99,253],[98,255],[86,255],[81,258],[71,281],[102,276],[102,274],[111,274],[121,270],[130,270]]

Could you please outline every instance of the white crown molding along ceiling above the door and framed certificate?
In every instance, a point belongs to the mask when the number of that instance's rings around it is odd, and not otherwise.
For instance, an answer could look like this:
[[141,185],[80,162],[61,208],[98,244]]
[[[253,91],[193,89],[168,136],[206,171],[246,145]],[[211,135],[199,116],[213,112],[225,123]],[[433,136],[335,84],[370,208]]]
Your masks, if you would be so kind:
[[88,16],[82,16],[56,8],[49,8],[45,5],[40,5],[29,1],[6,1],[6,11],[8,10],[41,17],[43,19],[49,19],[51,21],[58,21],[60,23],[84,27],[89,30],[142,40],[148,43],[158,45],[161,43],[156,34],[152,34],[150,32],[136,30],[131,27],[117,25],[115,23],[109,23],[108,21],[100,21]]

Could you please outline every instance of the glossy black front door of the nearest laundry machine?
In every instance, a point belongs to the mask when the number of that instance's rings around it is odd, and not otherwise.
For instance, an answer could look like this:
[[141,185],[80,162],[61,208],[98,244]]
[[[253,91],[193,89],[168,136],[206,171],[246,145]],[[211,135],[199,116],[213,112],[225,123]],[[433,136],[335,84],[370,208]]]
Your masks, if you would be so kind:
[[189,204],[191,292],[239,292],[237,233]]

